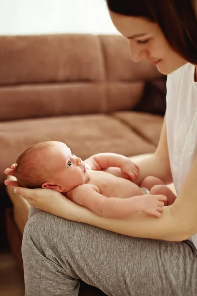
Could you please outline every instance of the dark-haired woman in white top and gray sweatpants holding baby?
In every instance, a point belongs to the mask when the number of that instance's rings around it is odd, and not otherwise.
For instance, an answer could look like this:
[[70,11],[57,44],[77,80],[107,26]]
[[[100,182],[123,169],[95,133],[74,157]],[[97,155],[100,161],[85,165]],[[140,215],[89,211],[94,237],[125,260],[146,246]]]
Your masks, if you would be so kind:
[[[77,296],[79,278],[113,296],[196,296],[197,0],[107,4],[129,40],[132,60],[147,59],[169,75],[159,145],[137,163],[136,183],[148,175],[173,181],[178,198],[159,219],[139,213],[112,220],[55,191],[17,188],[30,205],[69,219],[39,212],[28,221],[22,246],[26,296]],[[14,175],[14,166],[6,173]]]

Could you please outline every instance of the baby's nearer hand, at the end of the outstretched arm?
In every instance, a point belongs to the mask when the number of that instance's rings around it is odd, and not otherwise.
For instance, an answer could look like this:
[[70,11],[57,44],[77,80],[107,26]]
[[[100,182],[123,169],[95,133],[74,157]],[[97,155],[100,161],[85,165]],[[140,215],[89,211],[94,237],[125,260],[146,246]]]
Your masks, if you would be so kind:
[[140,196],[142,200],[142,209],[141,211],[153,215],[156,217],[161,216],[162,207],[164,202],[167,200],[167,197],[164,195],[142,195]]

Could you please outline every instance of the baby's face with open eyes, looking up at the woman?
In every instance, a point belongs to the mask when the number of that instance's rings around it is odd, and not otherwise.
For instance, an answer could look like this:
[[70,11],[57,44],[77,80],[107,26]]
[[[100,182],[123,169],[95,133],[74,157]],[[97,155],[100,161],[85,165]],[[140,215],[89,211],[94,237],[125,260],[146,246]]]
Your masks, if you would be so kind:
[[68,192],[88,181],[86,166],[81,158],[72,154],[62,142],[54,141],[50,148],[50,163],[53,182]]

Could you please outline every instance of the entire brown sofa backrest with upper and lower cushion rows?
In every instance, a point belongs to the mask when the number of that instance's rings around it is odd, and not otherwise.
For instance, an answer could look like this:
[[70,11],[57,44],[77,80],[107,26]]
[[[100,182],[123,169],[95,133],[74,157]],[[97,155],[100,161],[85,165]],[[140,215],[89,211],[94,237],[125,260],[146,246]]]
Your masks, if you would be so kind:
[[133,109],[147,80],[119,35],[0,36],[0,121]]

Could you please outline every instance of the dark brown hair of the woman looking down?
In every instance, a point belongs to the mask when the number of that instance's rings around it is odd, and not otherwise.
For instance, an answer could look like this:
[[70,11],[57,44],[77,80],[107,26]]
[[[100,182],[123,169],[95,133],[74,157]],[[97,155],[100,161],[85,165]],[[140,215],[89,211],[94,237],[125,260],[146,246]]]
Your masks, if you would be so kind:
[[171,47],[197,64],[197,0],[106,0],[109,10],[156,22]]

